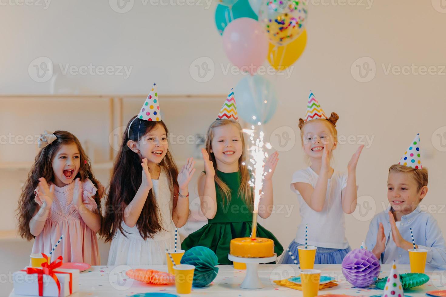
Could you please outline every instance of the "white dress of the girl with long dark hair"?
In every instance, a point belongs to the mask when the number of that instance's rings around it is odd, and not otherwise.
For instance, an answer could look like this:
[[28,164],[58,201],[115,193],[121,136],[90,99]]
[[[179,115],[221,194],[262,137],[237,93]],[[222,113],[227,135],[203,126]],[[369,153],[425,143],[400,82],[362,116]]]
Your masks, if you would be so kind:
[[[122,232],[116,232],[111,240],[110,252],[108,254],[107,265],[165,265],[166,248],[174,248],[175,224],[172,220],[172,193],[169,189],[169,178],[161,167],[159,179],[152,179],[153,193],[160,212],[161,230],[153,236],[144,240],[136,225],[128,227],[124,221],[122,227],[126,231],[126,236]],[[181,248],[178,238],[177,248]]]

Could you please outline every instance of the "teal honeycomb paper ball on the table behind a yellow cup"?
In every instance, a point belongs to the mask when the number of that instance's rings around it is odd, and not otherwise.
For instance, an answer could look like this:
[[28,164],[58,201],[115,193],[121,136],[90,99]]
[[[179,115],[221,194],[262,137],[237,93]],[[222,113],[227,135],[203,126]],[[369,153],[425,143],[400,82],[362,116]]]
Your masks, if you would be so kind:
[[205,287],[214,280],[219,272],[217,255],[210,248],[196,246],[187,250],[181,258],[181,264],[195,266],[192,285]]

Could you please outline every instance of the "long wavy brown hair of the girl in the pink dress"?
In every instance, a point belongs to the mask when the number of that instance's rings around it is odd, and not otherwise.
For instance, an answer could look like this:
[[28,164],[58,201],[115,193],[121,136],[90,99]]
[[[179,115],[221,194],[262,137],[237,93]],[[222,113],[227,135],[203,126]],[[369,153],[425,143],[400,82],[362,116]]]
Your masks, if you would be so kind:
[[96,204],[98,204],[99,215],[101,215],[100,198],[103,195],[103,187],[99,181],[95,179],[93,171],[91,171],[90,159],[88,159],[87,155],[85,154],[81,143],[76,136],[68,131],[58,130],[53,134],[56,135],[56,140],[54,140],[54,142],[52,142],[50,145],[42,148],[37,154],[36,158],[34,159],[34,164],[31,167],[31,171],[28,173],[28,179],[26,180],[25,185],[22,187],[22,194],[19,199],[19,207],[17,208],[18,231],[19,235],[27,240],[34,238],[29,231],[29,221],[37,209],[37,203],[34,201],[36,196],[34,194],[34,189],[37,187],[37,184],[39,183],[38,179],[41,177],[45,178],[48,182],[54,181],[52,163],[54,156],[57,154],[62,145],[74,143],[78,147],[80,155],[80,168],[74,179],[80,178],[81,181],[90,179],[95,185],[98,192],[93,196],[93,199],[95,199]]

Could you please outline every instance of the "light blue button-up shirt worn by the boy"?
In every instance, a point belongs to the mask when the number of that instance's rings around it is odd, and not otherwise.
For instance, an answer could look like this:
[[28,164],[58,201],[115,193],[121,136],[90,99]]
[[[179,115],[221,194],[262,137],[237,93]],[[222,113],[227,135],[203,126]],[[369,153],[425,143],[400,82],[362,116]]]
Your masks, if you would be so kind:
[[[382,223],[384,226],[384,236],[387,240],[386,249],[381,254],[381,261],[384,259],[384,253],[388,252],[387,247],[389,239],[392,238],[392,228],[390,227],[388,215],[389,210],[390,206],[386,211],[380,212],[373,217],[365,241],[368,249],[372,250],[376,245],[376,235],[378,234],[379,224]],[[418,248],[427,250],[426,263],[435,268],[439,267],[441,269],[446,269],[446,244],[437,220],[435,220],[429,213],[420,211],[420,208],[417,207],[413,212],[401,217],[401,223],[398,228],[404,240],[412,242],[409,228],[412,228],[415,244],[418,245]],[[391,263],[395,260],[396,263],[399,264],[409,264],[409,252],[396,246],[395,248],[397,249],[397,252],[392,254],[395,255],[396,259],[390,259],[386,256],[386,263]]]

